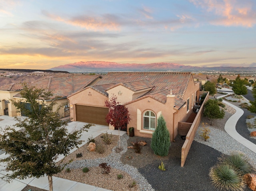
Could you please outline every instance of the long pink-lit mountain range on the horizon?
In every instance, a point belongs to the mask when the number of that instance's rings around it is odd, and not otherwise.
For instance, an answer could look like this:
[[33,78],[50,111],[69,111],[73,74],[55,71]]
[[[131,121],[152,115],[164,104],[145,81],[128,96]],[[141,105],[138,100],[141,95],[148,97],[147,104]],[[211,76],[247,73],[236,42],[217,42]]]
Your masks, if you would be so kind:
[[176,63],[119,64],[116,62],[88,61],[60,65],[53,71],[68,72],[110,72],[110,71],[256,71],[256,67],[197,67]]

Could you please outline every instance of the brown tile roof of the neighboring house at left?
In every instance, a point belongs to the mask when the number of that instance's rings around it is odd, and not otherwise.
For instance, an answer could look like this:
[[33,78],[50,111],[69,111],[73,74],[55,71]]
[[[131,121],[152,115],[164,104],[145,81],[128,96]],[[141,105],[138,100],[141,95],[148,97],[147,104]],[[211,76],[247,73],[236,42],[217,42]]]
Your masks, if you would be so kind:
[[[34,81],[29,86],[50,91],[53,97],[67,97],[80,89],[84,89],[99,77],[99,75],[53,75]],[[15,95],[15,97],[20,97],[20,94]]]

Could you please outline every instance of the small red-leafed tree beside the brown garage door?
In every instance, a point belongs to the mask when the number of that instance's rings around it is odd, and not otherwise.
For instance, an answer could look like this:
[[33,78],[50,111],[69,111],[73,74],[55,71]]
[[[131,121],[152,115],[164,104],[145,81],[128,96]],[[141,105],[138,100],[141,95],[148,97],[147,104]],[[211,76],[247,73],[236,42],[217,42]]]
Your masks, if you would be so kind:
[[121,149],[120,130],[129,123],[130,114],[125,106],[120,105],[120,102],[117,101],[117,96],[114,94],[109,101],[105,101],[105,106],[108,107],[106,122],[114,126],[115,129],[118,129],[119,149]]

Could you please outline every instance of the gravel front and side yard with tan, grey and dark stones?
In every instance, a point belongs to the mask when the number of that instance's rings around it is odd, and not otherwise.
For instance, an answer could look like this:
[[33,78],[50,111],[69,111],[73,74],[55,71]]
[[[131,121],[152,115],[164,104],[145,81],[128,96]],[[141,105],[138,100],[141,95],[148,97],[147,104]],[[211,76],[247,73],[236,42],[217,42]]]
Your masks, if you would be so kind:
[[[115,152],[116,140],[118,140],[116,137],[113,138],[112,144],[106,146],[103,154],[88,152],[86,146],[82,146],[62,161],[62,163],[67,163],[65,169],[70,168],[71,171],[68,173],[64,169],[56,176],[113,191],[217,191],[210,183],[208,173],[210,167],[216,164],[217,158],[222,154],[230,154],[237,150],[242,151],[251,159],[251,164],[256,166],[256,154],[238,144],[224,132],[226,120],[235,112],[232,107],[227,105],[224,110],[226,113],[224,118],[215,120],[210,126],[211,134],[208,142],[205,142],[198,133],[196,134],[184,167],[180,167],[181,147],[184,143],[180,136],[177,136],[176,141],[171,143],[168,156],[159,157],[154,155],[150,148],[150,138],[124,135],[121,142],[122,152]],[[207,123],[208,119],[203,117],[201,122]],[[102,144],[101,139],[98,136],[96,144],[97,142]],[[127,149],[131,142],[139,140],[148,143],[141,147],[141,154],[136,154],[133,149]],[[83,157],[76,158],[78,153],[82,153]],[[158,169],[161,161],[164,162],[166,171]],[[110,174],[101,173],[98,165],[102,162],[110,165]],[[90,171],[82,172],[83,167],[88,167]],[[118,174],[122,174],[124,178],[118,179]],[[134,180],[137,184],[130,188],[129,185]],[[29,186],[23,191],[28,189]],[[248,187],[245,190],[250,191]],[[32,191],[44,190],[36,188]]]

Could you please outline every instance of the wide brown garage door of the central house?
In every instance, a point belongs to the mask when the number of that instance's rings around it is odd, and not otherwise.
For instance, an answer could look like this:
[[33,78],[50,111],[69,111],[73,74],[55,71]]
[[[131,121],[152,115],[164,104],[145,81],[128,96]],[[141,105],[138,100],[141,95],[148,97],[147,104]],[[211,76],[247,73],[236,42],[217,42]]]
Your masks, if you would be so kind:
[[76,120],[80,122],[106,125],[108,108],[76,105]]

